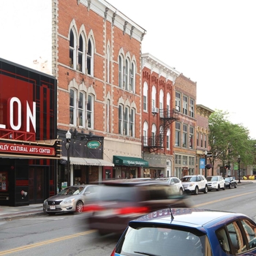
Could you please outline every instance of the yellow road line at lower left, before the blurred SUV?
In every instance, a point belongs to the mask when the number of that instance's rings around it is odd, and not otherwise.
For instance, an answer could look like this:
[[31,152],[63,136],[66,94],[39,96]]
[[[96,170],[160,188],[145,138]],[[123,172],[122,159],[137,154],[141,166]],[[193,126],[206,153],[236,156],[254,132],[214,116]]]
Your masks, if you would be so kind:
[[42,242],[39,242],[39,243],[36,243],[36,244],[29,244],[29,245],[25,245],[25,246],[20,246],[20,247],[17,247],[15,249],[9,249],[9,250],[6,250],[6,251],[2,251],[2,252],[0,252],[0,255],[9,255],[10,253],[20,252],[20,251],[23,251],[25,249],[31,249],[31,248],[34,248],[34,247],[43,246],[45,244],[53,244],[53,243],[56,243],[56,242],[59,242],[59,241],[64,241],[64,240],[75,238],[75,237],[78,237],[78,236],[85,236],[85,235],[88,235],[89,233],[94,233],[95,231],[96,230],[89,230],[89,231],[86,231],[86,232],[76,233],[76,234],[70,235],[70,236],[62,236],[60,238],[50,239],[48,241],[42,241]]

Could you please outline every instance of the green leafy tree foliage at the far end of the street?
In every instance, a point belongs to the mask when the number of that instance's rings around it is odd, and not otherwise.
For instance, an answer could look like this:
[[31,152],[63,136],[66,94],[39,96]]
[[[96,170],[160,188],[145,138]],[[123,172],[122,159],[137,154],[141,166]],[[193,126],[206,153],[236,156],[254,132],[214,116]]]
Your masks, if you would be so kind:
[[245,165],[251,165],[255,159],[255,143],[249,138],[249,130],[241,124],[232,124],[227,120],[228,113],[216,110],[208,119],[208,144],[213,157],[223,164],[227,161],[237,162],[238,156]]

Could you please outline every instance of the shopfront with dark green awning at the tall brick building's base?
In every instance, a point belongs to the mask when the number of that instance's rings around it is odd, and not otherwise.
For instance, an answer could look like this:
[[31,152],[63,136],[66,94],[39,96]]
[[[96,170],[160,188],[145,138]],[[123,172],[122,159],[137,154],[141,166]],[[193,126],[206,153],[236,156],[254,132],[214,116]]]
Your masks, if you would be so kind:
[[113,177],[116,178],[143,178],[143,167],[148,162],[138,157],[113,156]]

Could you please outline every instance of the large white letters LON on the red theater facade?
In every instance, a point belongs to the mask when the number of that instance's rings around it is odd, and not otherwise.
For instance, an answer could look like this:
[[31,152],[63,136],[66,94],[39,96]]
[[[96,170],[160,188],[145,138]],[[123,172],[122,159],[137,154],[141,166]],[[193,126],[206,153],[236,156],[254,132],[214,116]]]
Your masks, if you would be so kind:
[[[16,113],[16,115],[14,113]],[[26,132],[30,132],[30,125],[29,125],[30,122],[34,129],[33,132],[36,131],[36,102],[33,102],[33,110],[31,111],[28,101],[25,102],[22,108],[20,99],[18,99],[17,97],[12,97],[8,99],[8,104],[7,104],[7,123],[8,124],[0,124],[0,129],[8,129],[10,127],[10,129],[18,131],[22,127],[21,120],[23,120],[24,122],[24,127],[26,127]]]

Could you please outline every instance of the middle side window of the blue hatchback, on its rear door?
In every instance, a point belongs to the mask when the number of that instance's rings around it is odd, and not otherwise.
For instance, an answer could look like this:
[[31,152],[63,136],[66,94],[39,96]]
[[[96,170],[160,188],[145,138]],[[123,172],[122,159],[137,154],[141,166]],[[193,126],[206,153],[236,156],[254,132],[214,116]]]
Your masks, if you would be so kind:
[[232,222],[227,225],[230,241],[235,249],[236,254],[246,251],[246,243],[241,234],[241,230],[236,222]]

